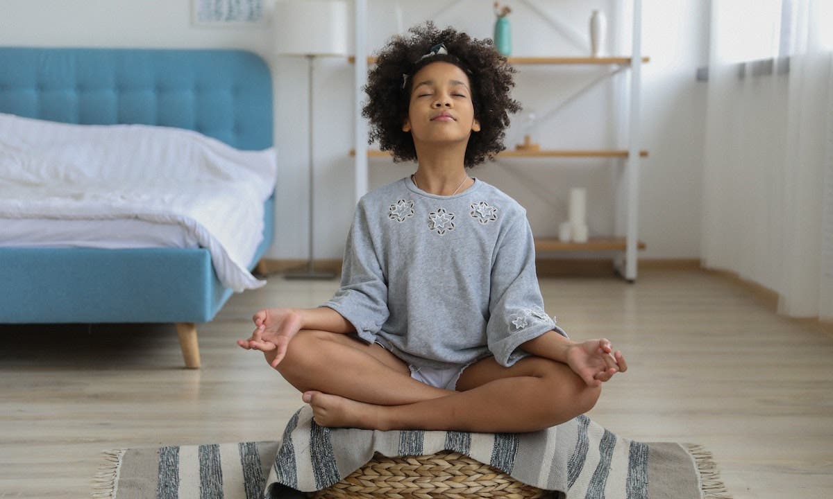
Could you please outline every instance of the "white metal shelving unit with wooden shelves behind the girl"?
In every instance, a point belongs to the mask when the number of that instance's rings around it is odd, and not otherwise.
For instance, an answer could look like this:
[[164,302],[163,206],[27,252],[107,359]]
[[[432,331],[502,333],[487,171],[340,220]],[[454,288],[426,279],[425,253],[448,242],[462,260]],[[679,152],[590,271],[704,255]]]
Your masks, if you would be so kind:
[[[437,12],[435,17],[446,12],[456,4],[464,0],[452,0],[445,7]],[[561,23],[550,17],[546,12],[528,0],[520,0],[527,7],[530,7],[536,15],[549,22],[552,27],[563,30]],[[613,68],[611,72],[597,78],[589,85],[576,92],[567,101],[571,101],[584,91],[621,71],[630,71],[630,92],[627,96],[627,141],[626,149],[618,150],[539,150],[539,151],[517,151],[506,150],[497,157],[500,158],[541,158],[541,157],[571,157],[571,158],[618,158],[625,171],[621,178],[624,185],[625,216],[624,216],[624,237],[597,237],[591,238],[587,243],[563,243],[554,239],[536,239],[536,250],[539,251],[569,251],[569,252],[614,252],[618,255],[614,263],[618,272],[629,282],[636,281],[637,275],[637,252],[645,248],[644,243],[638,239],[639,222],[639,176],[641,157],[647,156],[646,151],[639,147],[640,122],[639,110],[641,106],[641,67],[648,62],[647,57],[642,56],[641,44],[641,0],[632,0],[633,20],[631,36],[630,57],[508,57],[509,62],[515,66],[521,65],[598,65]],[[367,0],[355,0],[356,6],[356,54],[352,57],[356,70],[356,147],[352,154],[356,161],[356,194],[357,199],[367,192],[368,158],[383,158],[388,156],[387,152],[369,150],[367,147],[367,125],[362,118],[361,106],[358,102],[364,101],[365,96],[362,86],[367,82],[367,67],[374,62],[372,57],[367,57]],[[562,102],[550,114],[554,114],[566,102]]]

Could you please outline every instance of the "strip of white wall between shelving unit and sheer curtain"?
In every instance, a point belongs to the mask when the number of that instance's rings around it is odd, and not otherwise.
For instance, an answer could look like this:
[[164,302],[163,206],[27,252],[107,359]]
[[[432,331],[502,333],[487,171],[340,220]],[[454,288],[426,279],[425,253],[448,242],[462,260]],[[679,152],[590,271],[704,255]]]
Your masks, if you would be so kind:
[[640,237],[646,257],[699,258],[709,4],[646,0],[643,137],[651,156],[641,175]]

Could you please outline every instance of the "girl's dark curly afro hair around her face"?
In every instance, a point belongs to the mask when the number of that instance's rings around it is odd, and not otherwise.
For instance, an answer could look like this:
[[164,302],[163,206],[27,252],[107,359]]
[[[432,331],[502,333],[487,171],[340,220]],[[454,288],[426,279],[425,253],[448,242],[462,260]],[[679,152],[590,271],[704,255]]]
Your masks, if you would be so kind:
[[[410,132],[402,131],[408,116],[413,75],[431,62],[451,62],[460,67],[471,82],[474,117],[481,131],[472,132],[466,146],[465,166],[479,165],[503,151],[503,138],[509,126],[509,113],[521,105],[511,98],[515,69],[492,45],[491,39],[476,40],[451,27],[440,31],[432,22],[408,30],[410,37],[393,37],[379,52],[376,66],[368,75],[368,101],[362,116],[370,121],[370,142],[379,141],[382,151],[391,151],[393,161],[416,161],[416,148]],[[421,59],[431,47],[442,43],[448,54]],[[403,75],[407,80],[403,88]]]

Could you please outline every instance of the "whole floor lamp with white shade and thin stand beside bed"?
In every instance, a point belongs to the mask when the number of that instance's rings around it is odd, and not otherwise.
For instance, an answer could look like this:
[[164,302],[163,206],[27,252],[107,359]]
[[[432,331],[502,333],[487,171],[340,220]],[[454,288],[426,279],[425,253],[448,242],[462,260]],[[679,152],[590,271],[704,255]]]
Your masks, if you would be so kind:
[[313,162],[312,73],[316,57],[347,54],[347,2],[343,0],[289,0],[275,5],[277,53],[307,57],[309,96],[309,256],[307,268],[285,274],[287,279],[332,279],[335,274],[315,269],[315,174]]

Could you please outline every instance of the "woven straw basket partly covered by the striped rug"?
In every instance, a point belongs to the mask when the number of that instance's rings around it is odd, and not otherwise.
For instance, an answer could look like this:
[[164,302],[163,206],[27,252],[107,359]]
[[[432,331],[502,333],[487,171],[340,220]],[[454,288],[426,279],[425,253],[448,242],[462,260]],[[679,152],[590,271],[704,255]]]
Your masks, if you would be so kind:
[[457,452],[386,457],[376,453],[364,467],[312,495],[314,499],[526,499],[551,492],[516,481]]

